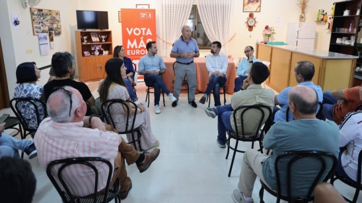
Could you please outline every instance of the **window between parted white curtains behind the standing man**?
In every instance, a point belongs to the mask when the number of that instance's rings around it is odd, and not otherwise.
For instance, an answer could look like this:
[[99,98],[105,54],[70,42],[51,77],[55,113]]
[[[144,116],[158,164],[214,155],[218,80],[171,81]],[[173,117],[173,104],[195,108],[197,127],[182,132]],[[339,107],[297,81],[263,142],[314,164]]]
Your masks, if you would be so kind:
[[191,27],[191,37],[196,39],[199,49],[209,49],[211,41],[206,36],[196,5],[192,6],[187,25]]

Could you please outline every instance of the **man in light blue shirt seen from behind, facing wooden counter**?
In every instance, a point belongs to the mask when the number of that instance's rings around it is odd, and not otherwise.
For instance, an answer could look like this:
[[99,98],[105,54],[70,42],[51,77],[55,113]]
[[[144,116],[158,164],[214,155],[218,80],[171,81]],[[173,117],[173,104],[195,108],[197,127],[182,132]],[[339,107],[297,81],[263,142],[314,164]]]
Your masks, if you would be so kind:
[[[314,85],[312,82],[314,76],[314,65],[309,61],[300,61],[294,67],[294,74],[299,85],[306,85],[312,87],[318,96],[318,102],[323,100],[322,88],[319,85]],[[288,108],[288,92],[292,87],[287,87],[283,89],[279,94],[275,95],[274,103],[275,105],[281,106],[279,111],[278,107],[274,107],[272,119],[274,122],[277,121],[286,121],[286,109]],[[319,111],[319,105],[317,112]],[[292,113],[289,111],[288,121],[294,120]]]

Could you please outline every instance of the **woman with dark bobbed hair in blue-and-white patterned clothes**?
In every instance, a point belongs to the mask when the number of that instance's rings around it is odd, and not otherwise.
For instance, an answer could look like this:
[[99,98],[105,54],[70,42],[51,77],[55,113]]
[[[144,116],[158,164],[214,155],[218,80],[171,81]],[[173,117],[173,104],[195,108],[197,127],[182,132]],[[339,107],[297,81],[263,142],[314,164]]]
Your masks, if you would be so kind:
[[[16,83],[19,85],[15,87],[14,98],[37,98],[44,100],[44,87],[37,85],[40,78],[40,70],[35,62],[25,62],[16,68]],[[44,119],[43,105],[37,104],[40,119]],[[24,107],[20,109],[21,114],[31,129],[38,128],[37,116],[35,115],[35,108],[30,103],[24,103]]]

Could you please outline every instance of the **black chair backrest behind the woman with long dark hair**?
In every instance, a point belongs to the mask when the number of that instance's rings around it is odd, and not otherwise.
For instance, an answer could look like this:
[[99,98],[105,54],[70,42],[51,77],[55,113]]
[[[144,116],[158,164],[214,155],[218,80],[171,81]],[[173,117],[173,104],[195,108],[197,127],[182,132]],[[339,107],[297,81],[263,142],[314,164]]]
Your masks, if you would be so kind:
[[134,102],[132,102],[130,100],[123,100],[123,99],[106,100],[105,102],[102,103],[101,108],[100,108],[102,110],[105,121],[108,124],[112,125],[115,129],[117,129],[117,128],[116,128],[116,125],[115,125],[115,122],[114,122],[114,119],[113,119],[114,115],[112,114],[111,107],[113,107],[113,105],[114,106],[121,105],[121,106],[126,108],[126,111],[125,111],[126,114],[127,114],[126,128],[125,128],[125,131],[118,132],[120,134],[125,134],[126,132],[128,132],[130,130],[132,131],[134,129],[134,122],[136,120],[137,111],[134,111],[132,125],[131,125],[131,127],[129,127],[130,108],[128,107],[127,103],[131,103],[131,106],[133,105],[134,108],[137,110],[137,105]]

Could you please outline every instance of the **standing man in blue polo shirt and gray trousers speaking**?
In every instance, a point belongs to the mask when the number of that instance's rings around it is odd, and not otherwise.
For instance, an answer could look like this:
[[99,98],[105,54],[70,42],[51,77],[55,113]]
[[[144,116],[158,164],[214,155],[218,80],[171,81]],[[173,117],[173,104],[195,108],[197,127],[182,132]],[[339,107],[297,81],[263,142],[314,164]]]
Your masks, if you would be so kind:
[[172,103],[172,107],[177,106],[182,81],[186,75],[187,82],[189,84],[189,104],[196,108],[196,68],[194,64],[194,57],[200,56],[199,46],[197,45],[196,40],[191,38],[191,28],[189,26],[184,25],[181,28],[181,32],[182,36],[175,41],[170,53],[170,57],[176,58],[173,95],[177,98],[177,100]]

